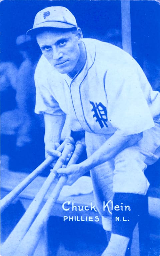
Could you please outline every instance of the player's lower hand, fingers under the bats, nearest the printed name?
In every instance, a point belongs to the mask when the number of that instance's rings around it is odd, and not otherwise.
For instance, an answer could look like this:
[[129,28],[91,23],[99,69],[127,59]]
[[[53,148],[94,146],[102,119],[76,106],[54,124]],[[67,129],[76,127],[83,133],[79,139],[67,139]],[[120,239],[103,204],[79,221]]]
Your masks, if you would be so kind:
[[75,164],[66,168],[60,168],[57,170],[57,173],[67,175],[68,179],[65,185],[71,186],[76,180],[85,174],[86,171],[80,166],[80,164]]

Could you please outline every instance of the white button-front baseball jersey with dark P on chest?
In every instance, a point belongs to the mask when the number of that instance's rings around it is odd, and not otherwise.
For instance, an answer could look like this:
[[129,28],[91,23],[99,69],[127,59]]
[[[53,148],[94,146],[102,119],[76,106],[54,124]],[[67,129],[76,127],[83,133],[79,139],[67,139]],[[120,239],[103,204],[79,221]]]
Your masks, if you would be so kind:
[[67,114],[70,129],[122,136],[160,122],[160,93],[153,91],[138,63],[122,49],[83,39],[86,62],[71,79],[42,55],[36,71],[36,113]]

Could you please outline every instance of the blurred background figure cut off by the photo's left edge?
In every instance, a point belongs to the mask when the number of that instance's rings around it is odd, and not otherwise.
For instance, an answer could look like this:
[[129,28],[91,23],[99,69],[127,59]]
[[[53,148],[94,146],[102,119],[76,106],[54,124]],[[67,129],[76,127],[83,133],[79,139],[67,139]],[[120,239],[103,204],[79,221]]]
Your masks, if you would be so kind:
[[9,168],[9,159],[15,150],[15,134],[20,125],[15,99],[17,72],[12,62],[1,63],[1,168],[6,169]]

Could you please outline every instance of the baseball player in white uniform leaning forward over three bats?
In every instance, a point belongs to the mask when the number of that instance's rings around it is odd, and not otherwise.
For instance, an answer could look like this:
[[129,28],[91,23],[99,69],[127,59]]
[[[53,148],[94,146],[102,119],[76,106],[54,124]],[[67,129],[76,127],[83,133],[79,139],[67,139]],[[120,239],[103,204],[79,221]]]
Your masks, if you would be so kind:
[[[160,94],[128,53],[83,39],[65,7],[38,12],[27,33],[42,51],[35,112],[44,114],[46,154],[61,154],[55,143],[66,119],[71,130],[85,131],[87,159],[58,173],[71,185],[90,170],[103,227],[111,230],[102,255],[124,256],[149,187],[144,170],[160,156]],[[104,205],[109,200],[112,220]]]

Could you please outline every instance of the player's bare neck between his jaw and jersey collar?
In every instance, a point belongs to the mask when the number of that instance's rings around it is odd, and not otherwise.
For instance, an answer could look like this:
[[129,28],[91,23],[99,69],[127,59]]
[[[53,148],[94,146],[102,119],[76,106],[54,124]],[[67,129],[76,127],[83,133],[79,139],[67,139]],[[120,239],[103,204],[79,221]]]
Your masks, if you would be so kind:
[[80,44],[79,46],[80,49],[80,56],[78,59],[78,62],[75,66],[75,68],[72,70],[72,72],[68,73],[68,75],[73,79],[75,77],[75,75],[83,68],[84,64],[85,64],[85,47],[83,42]]

